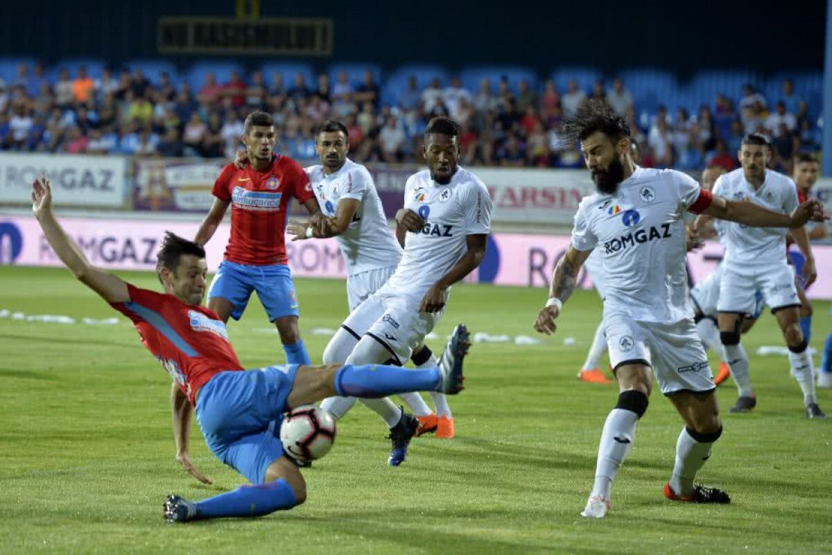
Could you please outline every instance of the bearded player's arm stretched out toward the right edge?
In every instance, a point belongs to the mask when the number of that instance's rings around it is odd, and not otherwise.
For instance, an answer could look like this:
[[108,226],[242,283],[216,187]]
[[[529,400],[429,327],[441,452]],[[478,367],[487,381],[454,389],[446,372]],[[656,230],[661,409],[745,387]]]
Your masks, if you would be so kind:
[[820,204],[820,200],[817,199],[807,200],[800,204],[791,214],[781,214],[763,208],[759,204],[723,199],[716,194],[711,204],[702,210],[701,214],[743,223],[754,228],[800,228],[809,220],[823,222],[826,219],[824,205]]

